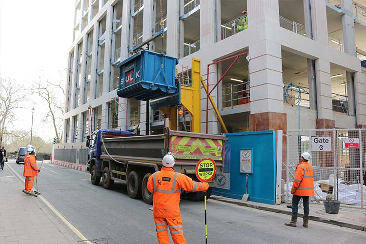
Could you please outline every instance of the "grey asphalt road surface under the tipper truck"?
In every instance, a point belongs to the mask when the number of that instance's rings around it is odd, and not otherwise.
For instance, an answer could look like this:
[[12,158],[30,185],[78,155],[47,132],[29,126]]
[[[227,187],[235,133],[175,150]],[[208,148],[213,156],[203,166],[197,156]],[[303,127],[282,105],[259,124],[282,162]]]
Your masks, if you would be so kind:
[[[23,169],[13,162],[5,167],[12,167],[18,174]],[[151,205],[129,198],[125,184],[115,183],[112,190],[106,190],[102,184],[91,184],[88,173],[47,162],[38,181],[43,198],[90,243],[158,243]],[[17,194],[21,195],[20,190]],[[183,199],[180,209],[187,243],[204,243],[203,202]],[[292,244],[295,240],[297,244],[360,244],[366,240],[364,231],[314,221],[304,228],[302,220],[293,228],[284,225],[288,221],[285,214],[207,201],[209,244]]]

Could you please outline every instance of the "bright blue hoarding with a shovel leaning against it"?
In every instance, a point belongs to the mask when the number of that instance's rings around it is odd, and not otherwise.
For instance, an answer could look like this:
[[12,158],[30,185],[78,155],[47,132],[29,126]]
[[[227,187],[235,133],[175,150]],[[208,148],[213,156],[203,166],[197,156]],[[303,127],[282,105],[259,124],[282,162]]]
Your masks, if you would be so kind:
[[[249,174],[248,194],[249,201],[275,204],[276,196],[276,143],[275,132],[254,131],[241,133],[227,133],[226,145],[230,150],[226,155],[225,164],[229,164],[229,189],[214,188],[213,194],[242,199],[245,193],[245,173],[241,173],[241,150],[251,150],[252,173]],[[227,162],[229,160],[229,162]],[[225,166],[224,166],[225,168]],[[228,171],[226,169],[226,171]],[[228,179],[227,179],[228,178]]]

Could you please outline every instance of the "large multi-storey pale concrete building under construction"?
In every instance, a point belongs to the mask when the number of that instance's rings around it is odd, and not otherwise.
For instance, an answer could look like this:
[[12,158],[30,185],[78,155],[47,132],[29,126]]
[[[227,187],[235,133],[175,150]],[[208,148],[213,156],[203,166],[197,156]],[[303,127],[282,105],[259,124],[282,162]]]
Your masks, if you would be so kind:
[[[192,59],[201,61],[203,81],[208,78],[210,90],[217,84],[212,100],[228,132],[365,128],[363,4],[365,0],[76,0],[64,148],[84,148],[86,137],[97,129],[144,135],[148,125],[150,134],[163,133],[169,122],[161,110],[117,96],[118,64],[154,36],[148,48],[179,59],[182,85],[189,86],[196,72]],[[162,26],[163,39],[156,35]],[[246,52],[248,57],[240,55]],[[201,131],[206,132],[207,121],[208,133],[224,132],[210,103],[206,117],[206,104],[201,88]],[[189,131],[192,116],[182,110],[177,125]]]

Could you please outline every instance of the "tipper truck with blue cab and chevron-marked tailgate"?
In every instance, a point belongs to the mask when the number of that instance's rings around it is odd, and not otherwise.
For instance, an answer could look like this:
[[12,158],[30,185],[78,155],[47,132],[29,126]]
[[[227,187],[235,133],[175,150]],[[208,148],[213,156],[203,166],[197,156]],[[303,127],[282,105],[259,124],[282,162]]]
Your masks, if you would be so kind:
[[[147,190],[147,179],[162,167],[163,156],[171,152],[176,160],[174,170],[197,181],[195,168],[199,160],[211,158],[222,173],[224,164],[225,135],[210,135],[173,131],[168,128],[161,135],[139,136],[131,132],[97,130],[87,138],[90,148],[87,170],[91,182],[111,189],[115,181],[126,183],[131,198],[141,198],[152,203],[153,196]],[[216,178],[209,182],[217,186]],[[203,192],[183,192],[191,201],[203,201]]]

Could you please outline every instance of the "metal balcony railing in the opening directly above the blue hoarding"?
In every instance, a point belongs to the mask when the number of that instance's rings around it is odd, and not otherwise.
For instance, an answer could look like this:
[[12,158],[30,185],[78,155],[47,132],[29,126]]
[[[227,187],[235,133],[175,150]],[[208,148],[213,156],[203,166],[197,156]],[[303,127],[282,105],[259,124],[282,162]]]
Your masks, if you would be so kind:
[[249,81],[230,84],[223,88],[223,107],[231,107],[250,102]]

